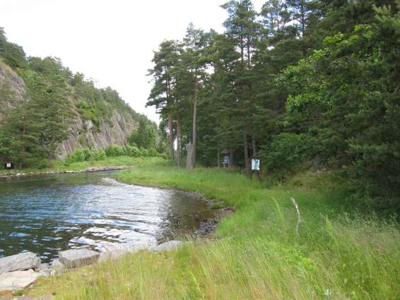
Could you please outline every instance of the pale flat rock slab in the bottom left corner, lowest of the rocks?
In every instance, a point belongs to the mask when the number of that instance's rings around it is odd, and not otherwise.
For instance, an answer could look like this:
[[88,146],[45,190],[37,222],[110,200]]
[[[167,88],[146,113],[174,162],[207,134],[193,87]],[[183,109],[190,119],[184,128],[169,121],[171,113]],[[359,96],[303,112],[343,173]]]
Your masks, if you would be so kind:
[[3,273],[0,275],[0,292],[26,289],[37,277],[40,277],[40,273],[33,270]]

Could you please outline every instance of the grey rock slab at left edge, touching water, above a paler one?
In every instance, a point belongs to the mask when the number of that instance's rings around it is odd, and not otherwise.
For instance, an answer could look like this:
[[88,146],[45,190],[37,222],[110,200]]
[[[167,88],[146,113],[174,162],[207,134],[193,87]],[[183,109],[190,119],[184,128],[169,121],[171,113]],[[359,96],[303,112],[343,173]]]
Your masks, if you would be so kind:
[[15,256],[0,258],[0,274],[5,272],[35,269],[40,265],[40,258],[35,253],[25,252]]

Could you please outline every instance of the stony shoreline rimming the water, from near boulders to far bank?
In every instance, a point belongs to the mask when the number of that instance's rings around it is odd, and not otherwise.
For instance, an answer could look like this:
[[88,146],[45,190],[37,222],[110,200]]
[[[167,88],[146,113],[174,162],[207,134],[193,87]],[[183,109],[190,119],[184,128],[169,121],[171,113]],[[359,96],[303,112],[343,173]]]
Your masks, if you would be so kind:
[[[42,172],[42,173],[17,173],[11,176],[28,176],[36,174],[60,174],[60,173],[81,173],[81,172],[102,172],[102,171],[113,171],[128,169],[129,167],[90,167],[78,171],[55,171],[55,172]],[[2,176],[0,175],[0,178]],[[4,176],[3,176],[4,177]],[[9,177],[9,176],[6,176]],[[138,184],[141,185],[141,184]],[[152,186],[154,188],[160,188],[158,186]],[[170,189],[170,188],[168,188]],[[204,198],[201,193],[195,193],[191,191],[182,191],[181,193],[187,193],[189,196],[194,196],[198,200],[204,201],[210,207],[212,205],[220,205],[223,202],[219,200],[208,200]],[[201,220],[199,228],[194,232],[192,238],[196,239],[208,239],[215,232],[218,223],[223,217],[232,215],[235,209],[232,207],[218,208],[216,209],[216,215],[212,219]],[[173,238],[173,237],[172,237]],[[159,241],[160,242],[160,241]],[[131,244],[112,244],[105,247],[102,252],[88,250],[88,249],[70,249],[59,252],[59,258],[52,261],[52,263],[42,263],[40,258],[32,252],[19,253],[14,256],[7,256],[0,258],[0,295],[4,292],[13,293],[18,290],[27,289],[31,287],[39,277],[43,276],[54,276],[60,275],[69,270],[80,268],[85,265],[92,265],[95,263],[102,263],[106,260],[113,260],[124,256],[127,253],[136,253],[138,251],[170,251],[178,248],[184,244],[191,243],[187,241],[165,241],[158,246],[151,247],[146,244],[131,245]],[[0,299],[1,296],[0,296]],[[14,299],[14,298],[13,298]],[[30,299],[30,298],[28,298]]]

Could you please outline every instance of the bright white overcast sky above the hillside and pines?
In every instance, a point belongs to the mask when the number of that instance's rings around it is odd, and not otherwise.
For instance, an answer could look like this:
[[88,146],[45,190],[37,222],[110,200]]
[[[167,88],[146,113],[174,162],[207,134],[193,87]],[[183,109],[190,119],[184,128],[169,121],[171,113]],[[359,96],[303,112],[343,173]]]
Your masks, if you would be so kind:
[[[0,27],[28,56],[56,56],[73,72],[110,86],[133,107],[145,108],[153,50],[180,40],[187,25],[222,32],[228,0],[0,0]],[[264,0],[253,0],[259,8]]]

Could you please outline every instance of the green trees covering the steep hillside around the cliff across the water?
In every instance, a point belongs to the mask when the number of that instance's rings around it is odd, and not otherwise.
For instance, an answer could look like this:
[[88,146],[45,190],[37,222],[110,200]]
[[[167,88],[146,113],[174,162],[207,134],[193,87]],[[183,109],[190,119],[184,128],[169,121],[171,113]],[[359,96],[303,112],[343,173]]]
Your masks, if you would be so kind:
[[[22,47],[8,42],[2,28],[1,63],[22,78],[25,87],[23,99],[17,101],[12,88],[16,83],[7,76],[0,81],[0,162],[14,162],[19,168],[47,167],[59,143],[71,135],[76,118],[91,121],[98,132],[102,122],[112,126],[114,112],[130,115],[139,124],[137,132],[129,137],[131,145],[143,148],[143,153],[156,147],[157,126],[134,112],[117,91],[96,88],[93,80],[86,80],[82,73],[72,73],[60,59],[26,56]],[[80,130],[79,142],[86,145],[85,128]],[[82,151],[77,152],[75,157],[81,157]]]

